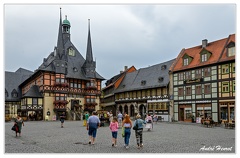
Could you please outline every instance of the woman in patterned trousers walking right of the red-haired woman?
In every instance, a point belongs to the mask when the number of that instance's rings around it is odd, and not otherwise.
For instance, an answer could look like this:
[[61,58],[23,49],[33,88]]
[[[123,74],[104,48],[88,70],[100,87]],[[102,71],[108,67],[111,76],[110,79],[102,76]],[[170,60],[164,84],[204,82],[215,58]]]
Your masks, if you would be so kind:
[[135,130],[135,136],[136,136],[136,141],[137,141],[137,148],[143,147],[143,124],[146,124],[144,120],[141,119],[141,115],[137,114],[136,120],[134,122],[134,126],[137,125],[137,129]]

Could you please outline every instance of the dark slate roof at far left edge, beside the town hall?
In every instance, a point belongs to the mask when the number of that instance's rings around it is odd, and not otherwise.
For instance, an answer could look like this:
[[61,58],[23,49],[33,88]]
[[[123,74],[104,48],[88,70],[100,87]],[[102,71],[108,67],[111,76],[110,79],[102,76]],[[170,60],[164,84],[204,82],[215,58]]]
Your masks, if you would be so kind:
[[[19,85],[24,82],[33,74],[32,71],[19,68],[16,72],[5,71],[5,92],[8,93],[8,97],[5,98],[5,101],[20,101],[22,97],[22,92],[19,88]],[[12,92],[14,89],[18,93],[18,97],[12,97]]]

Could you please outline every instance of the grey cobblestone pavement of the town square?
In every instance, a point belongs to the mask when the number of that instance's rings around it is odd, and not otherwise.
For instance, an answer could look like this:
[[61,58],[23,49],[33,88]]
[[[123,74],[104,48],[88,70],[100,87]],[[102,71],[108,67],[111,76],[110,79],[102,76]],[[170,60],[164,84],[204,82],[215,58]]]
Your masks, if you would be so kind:
[[137,149],[132,130],[130,148],[124,148],[121,130],[117,147],[112,147],[111,131],[100,127],[95,145],[88,145],[82,121],[25,122],[22,136],[11,131],[13,122],[5,123],[5,153],[235,153],[235,129],[206,128],[195,123],[154,124],[153,131],[143,132],[144,147]]

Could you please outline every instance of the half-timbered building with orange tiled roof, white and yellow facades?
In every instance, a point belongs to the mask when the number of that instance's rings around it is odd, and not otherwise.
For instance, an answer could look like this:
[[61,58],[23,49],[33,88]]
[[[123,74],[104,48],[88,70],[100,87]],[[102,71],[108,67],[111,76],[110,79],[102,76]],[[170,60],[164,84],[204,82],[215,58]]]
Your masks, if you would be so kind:
[[219,121],[234,115],[235,35],[182,49],[170,73],[175,120]]

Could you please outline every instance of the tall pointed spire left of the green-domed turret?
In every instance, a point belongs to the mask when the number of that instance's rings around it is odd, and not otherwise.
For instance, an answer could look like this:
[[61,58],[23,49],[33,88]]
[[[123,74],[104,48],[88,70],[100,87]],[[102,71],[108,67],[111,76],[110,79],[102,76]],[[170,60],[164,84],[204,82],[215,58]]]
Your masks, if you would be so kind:
[[63,33],[62,33],[62,8],[60,8],[60,22],[59,22],[59,30],[58,30],[58,41],[57,41],[57,54],[62,58],[64,54],[64,44],[63,44]]

